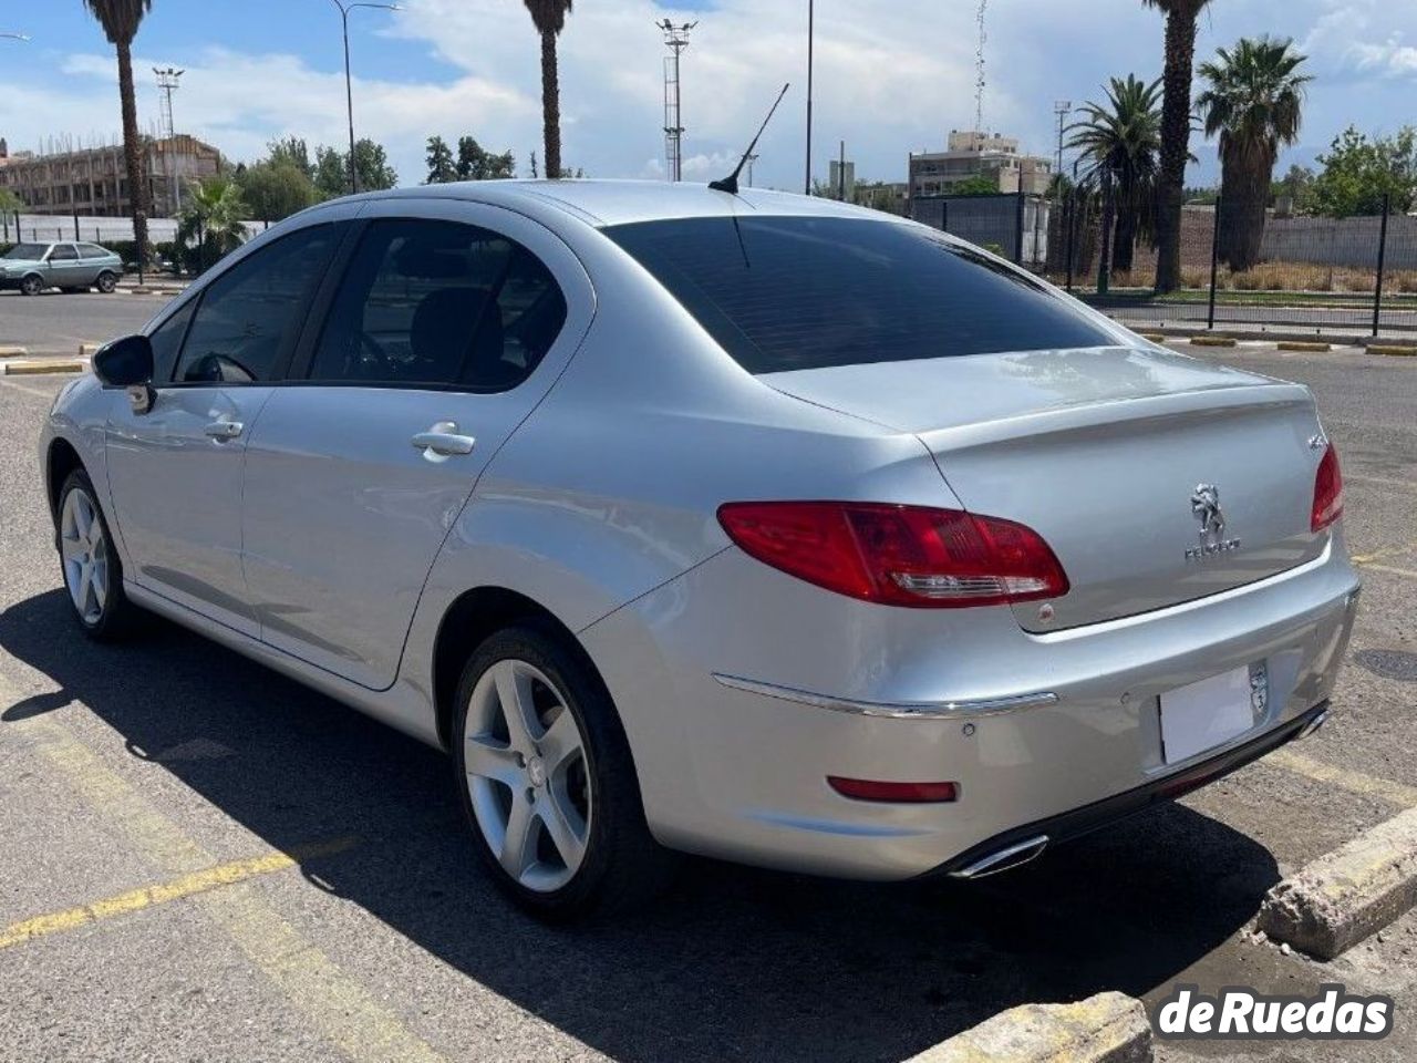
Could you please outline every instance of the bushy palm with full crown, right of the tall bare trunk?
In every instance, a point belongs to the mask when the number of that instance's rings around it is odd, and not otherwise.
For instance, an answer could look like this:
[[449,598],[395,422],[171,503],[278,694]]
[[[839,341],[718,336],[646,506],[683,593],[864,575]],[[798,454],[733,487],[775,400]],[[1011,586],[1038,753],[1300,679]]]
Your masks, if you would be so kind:
[[1209,88],[1196,101],[1206,136],[1220,136],[1220,258],[1236,272],[1260,261],[1265,207],[1280,147],[1299,136],[1305,58],[1292,40],[1241,40],[1200,65]]

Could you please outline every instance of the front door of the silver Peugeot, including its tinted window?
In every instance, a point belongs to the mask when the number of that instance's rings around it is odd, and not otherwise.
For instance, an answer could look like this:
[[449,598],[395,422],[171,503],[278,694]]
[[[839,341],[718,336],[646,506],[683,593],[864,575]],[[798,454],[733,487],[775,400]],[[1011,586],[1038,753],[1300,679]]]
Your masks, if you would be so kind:
[[252,638],[241,570],[247,439],[296,347],[344,225],[242,255],[152,334],[156,401],[119,405],[108,471],[129,580]]

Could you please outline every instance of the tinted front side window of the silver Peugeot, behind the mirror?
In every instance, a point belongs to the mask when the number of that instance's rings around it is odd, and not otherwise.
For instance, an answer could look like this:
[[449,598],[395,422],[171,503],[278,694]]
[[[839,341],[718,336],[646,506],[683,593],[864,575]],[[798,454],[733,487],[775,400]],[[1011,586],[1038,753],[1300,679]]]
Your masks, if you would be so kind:
[[271,380],[289,357],[341,227],[312,225],[256,251],[201,296],[177,363],[180,383]]

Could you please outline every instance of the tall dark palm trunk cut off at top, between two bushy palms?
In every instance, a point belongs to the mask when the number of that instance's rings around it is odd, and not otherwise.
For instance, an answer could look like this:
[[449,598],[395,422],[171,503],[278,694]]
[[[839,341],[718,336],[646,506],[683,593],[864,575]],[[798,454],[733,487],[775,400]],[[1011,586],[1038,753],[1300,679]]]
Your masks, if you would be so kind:
[[1166,14],[1165,103],[1161,116],[1161,179],[1156,183],[1156,292],[1180,288],[1180,208],[1190,162],[1190,79],[1196,20],[1210,0],[1142,0]]

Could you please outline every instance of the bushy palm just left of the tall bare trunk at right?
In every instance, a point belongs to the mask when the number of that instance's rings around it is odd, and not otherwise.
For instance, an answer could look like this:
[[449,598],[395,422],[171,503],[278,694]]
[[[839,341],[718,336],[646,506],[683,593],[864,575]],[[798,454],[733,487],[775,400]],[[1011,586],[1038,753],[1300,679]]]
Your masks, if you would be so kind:
[[1135,74],[1112,78],[1105,103],[1085,103],[1085,118],[1073,125],[1070,147],[1091,163],[1087,184],[1111,183],[1119,271],[1132,268],[1138,235],[1149,237],[1161,153],[1161,81],[1148,85]]

